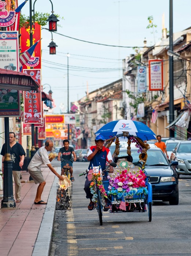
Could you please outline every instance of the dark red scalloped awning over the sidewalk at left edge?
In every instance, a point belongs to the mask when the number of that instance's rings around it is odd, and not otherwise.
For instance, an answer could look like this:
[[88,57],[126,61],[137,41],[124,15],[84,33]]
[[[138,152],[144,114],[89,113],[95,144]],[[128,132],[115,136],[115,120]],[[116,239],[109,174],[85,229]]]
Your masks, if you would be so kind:
[[0,87],[15,90],[40,92],[40,85],[28,74],[0,68]]

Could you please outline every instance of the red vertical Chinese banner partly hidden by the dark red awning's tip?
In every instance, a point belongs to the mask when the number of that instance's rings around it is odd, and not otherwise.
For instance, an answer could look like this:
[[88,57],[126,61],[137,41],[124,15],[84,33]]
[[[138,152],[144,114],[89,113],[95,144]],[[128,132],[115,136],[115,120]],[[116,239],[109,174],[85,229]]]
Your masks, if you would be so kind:
[[[31,75],[35,81],[41,84],[41,70],[40,69],[26,69],[23,73]],[[24,123],[42,123],[42,99],[41,86],[40,93],[30,90],[24,92]]]

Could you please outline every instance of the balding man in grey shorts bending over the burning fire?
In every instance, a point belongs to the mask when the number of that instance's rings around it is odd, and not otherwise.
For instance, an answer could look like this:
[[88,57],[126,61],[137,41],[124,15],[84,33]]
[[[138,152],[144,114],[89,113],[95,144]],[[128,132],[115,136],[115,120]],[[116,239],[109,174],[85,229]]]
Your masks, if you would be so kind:
[[40,149],[38,149],[28,166],[28,171],[33,178],[35,184],[40,183],[37,188],[37,194],[34,200],[34,204],[47,204],[46,202],[41,200],[41,195],[46,184],[40,170],[42,164],[46,164],[49,167],[50,171],[52,171],[59,179],[64,180],[64,178],[59,175],[52,167],[52,164],[50,163],[52,159],[48,159],[48,151],[51,151],[53,147],[53,142],[51,140],[46,140],[45,146],[42,146]]

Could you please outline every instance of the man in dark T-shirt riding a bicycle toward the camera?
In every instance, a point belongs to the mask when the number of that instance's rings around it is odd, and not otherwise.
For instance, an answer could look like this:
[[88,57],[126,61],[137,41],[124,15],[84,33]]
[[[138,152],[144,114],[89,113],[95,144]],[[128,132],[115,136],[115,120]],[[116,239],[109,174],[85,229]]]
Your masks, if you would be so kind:
[[[73,174],[73,169],[72,169],[72,155],[74,156],[74,162],[76,161],[76,154],[74,151],[74,148],[72,148],[71,146],[69,146],[69,140],[63,140],[63,147],[60,148],[59,150],[59,154],[58,154],[58,161],[61,161],[61,159],[66,160],[67,163],[69,163],[69,166],[71,166],[70,168],[70,179],[71,181],[74,181],[74,176]],[[64,161],[61,162],[61,168],[63,168],[63,166],[65,166]]]

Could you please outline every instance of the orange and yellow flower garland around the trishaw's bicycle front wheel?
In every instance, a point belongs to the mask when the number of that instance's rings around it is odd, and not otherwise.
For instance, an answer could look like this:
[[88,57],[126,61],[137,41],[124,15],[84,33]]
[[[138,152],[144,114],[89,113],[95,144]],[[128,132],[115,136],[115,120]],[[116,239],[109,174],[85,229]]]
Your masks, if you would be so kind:
[[97,206],[97,187],[100,190],[101,194],[101,204],[105,205],[105,198],[108,198],[108,195],[104,189],[104,185],[102,183],[102,178],[100,177],[100,173],[94,173],[92,177],[92,182],[90,183],[90,192],[93,194],[92,201],[94,202],[95,207]]

